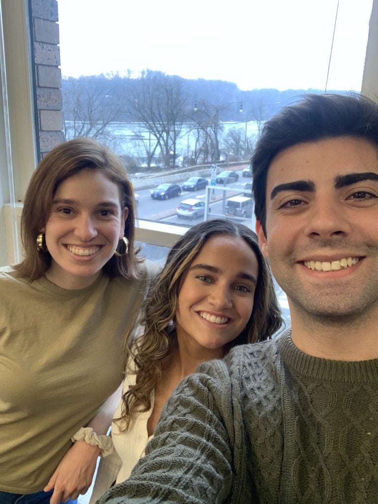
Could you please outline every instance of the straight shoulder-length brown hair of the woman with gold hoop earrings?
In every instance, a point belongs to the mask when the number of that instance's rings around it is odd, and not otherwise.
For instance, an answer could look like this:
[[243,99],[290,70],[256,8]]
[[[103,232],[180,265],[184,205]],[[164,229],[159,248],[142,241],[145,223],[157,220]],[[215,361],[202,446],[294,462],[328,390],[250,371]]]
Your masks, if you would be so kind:
[[14,266],[20,277],[30,282],[42,277],[51,265],[48,250],[37,250],[36,239],[50,216],[51,204],[58,185],[84,169],[103,173],[119,189],[121,208],[128,207],[124,223],[124,236],[129,240],[129,254],[112,256],[103,266],[109,277],[138,278],[134,250],[136,204],[133,185],[128,179],[122,162],[107,147],[90,138],[76,138],[52,149],[41,162],[28,185],[21,215],[21,239],[24,260]]

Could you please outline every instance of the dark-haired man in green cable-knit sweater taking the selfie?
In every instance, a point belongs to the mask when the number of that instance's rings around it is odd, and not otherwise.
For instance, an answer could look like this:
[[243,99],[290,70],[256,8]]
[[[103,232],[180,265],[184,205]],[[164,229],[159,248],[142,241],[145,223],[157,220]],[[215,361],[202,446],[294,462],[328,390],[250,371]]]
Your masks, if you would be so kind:
[[202,364],[109,502],[378,502],[378,106],[308,95],[252,160],[291,331]]

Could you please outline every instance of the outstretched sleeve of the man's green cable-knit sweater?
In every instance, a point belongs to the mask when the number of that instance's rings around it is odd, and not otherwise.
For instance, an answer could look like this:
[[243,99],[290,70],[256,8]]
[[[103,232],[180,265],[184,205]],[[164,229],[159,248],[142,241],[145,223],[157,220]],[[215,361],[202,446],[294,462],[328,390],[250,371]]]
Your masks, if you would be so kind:
[[221,361],[207,362],[183,380],[163,410],[146,456],[99,503],[224,502],[233,480],[230,389]]

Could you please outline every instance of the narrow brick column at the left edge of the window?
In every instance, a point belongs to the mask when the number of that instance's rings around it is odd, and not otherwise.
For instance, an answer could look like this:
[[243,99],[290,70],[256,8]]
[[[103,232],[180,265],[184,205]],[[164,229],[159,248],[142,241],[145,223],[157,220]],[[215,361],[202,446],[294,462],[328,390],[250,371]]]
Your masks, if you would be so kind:
[[40,156],[64,141],[58,5],[31,0]]

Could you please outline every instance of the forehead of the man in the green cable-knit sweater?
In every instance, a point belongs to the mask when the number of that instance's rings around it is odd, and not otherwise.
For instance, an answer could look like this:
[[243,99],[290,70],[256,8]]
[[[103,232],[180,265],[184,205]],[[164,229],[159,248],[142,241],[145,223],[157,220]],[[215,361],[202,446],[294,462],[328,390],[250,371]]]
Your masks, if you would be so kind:
[[314,186],[334,185],[347,173],[378,173],[377,146],[358,137],[336,137],[294,145],[272,161],[267,177],[267,197],[277,184],[310,180]]

